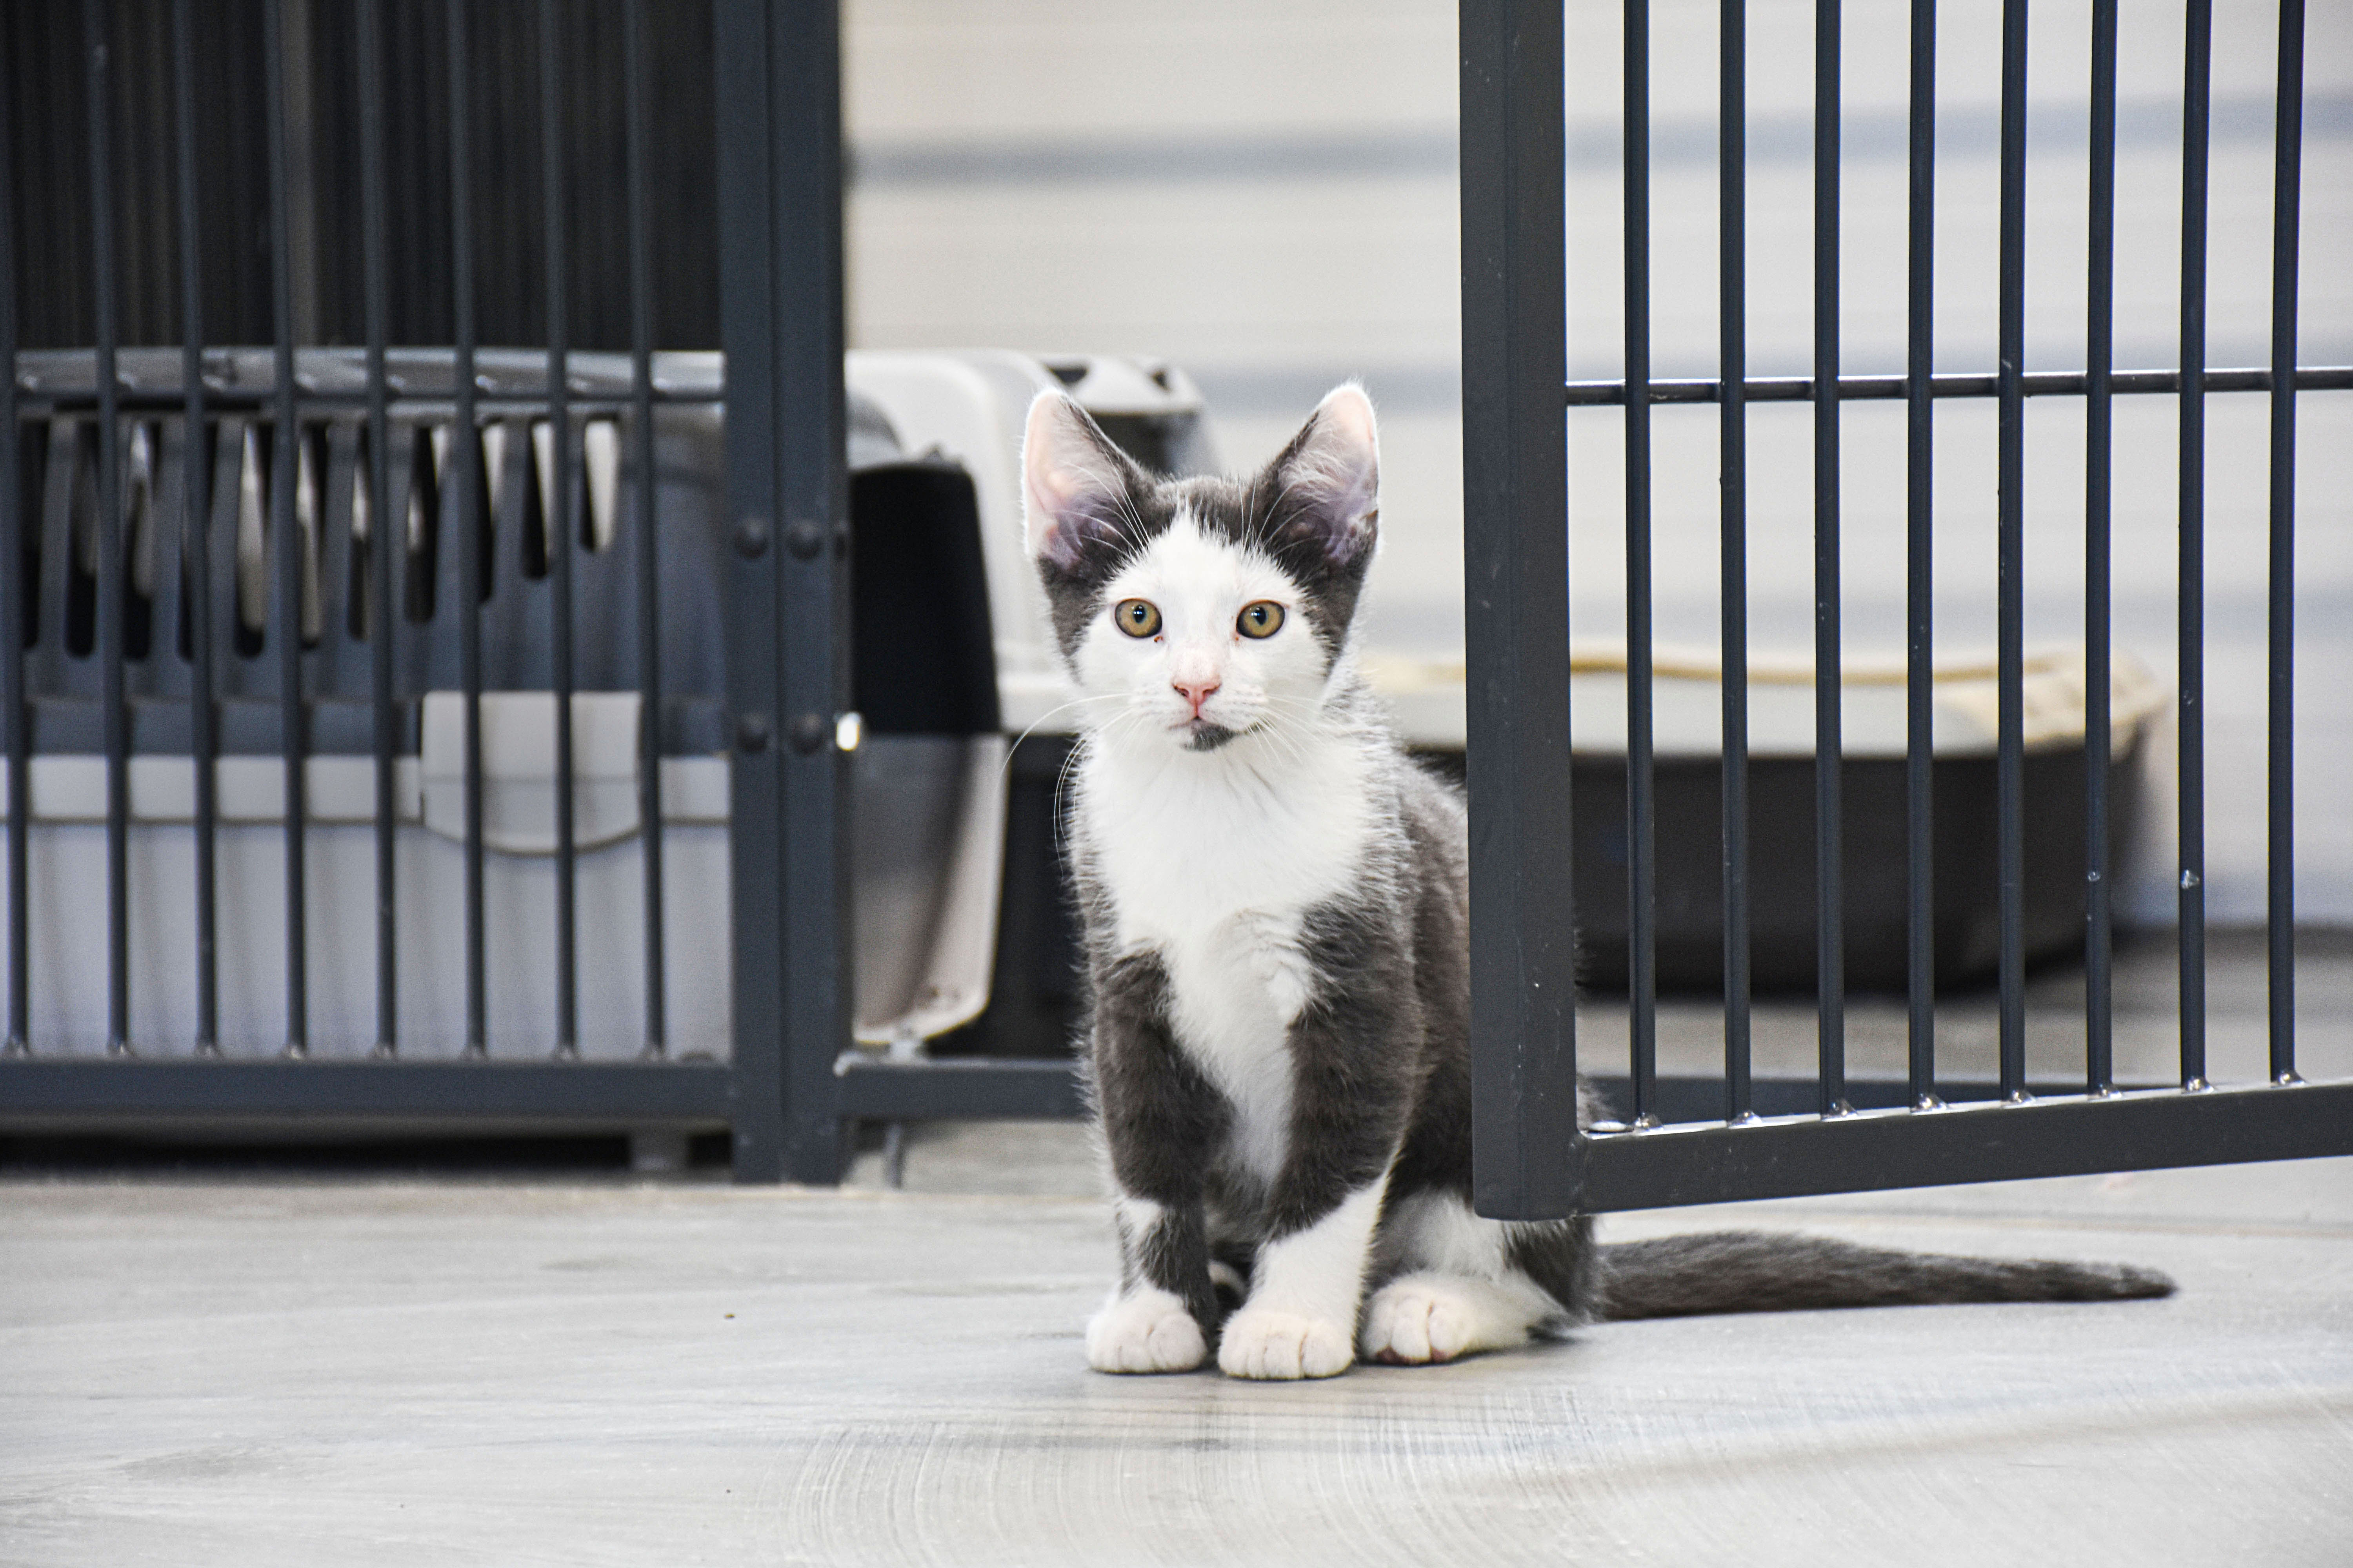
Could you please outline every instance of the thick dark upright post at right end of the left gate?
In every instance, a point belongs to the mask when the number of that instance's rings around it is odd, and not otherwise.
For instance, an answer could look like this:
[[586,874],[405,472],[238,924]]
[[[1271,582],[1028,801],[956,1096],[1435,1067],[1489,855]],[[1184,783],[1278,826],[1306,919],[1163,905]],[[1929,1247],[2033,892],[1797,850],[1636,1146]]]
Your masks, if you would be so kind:
[[[713,7],[727,353],[736,1175],[835,1180],[847,691],[833,5]],[[755,132],[755,134],[744,134]],[[793,155],[784,155],[791,146]],[[784,543],[784,548],[772,548]]]

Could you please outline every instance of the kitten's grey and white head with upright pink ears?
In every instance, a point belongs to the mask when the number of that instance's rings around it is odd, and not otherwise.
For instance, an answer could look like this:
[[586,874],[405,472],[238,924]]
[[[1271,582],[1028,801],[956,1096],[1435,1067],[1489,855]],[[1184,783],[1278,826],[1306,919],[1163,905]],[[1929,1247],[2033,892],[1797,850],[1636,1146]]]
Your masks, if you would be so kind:
[[1031,559],[1085,729],[1214,752],[1313,722],[1372,564],[1372,400],[1334,388],[1247,480],[1144,473],[1061,393],[1021,444]]

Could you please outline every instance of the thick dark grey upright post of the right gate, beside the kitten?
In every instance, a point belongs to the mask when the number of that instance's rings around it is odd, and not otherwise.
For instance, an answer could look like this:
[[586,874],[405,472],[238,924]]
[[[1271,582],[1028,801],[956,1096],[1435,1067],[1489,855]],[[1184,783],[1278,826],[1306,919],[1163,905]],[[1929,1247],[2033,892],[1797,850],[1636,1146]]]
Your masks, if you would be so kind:
[[1473,1201],[1584,1187],[1569,903],[1560,0],[1461,0]]

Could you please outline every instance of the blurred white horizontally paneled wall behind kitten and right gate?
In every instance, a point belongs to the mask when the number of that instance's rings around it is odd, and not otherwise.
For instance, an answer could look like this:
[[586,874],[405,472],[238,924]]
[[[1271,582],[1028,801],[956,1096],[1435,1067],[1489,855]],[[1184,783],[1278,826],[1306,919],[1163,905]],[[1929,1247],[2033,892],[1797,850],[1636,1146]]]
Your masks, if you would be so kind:
[[[2000,0],[1939,21],[1937,367],[1991,371]],[[1713,0],[1652,0],[1654,364],[1715,371]],[[1369,635],[1461,651],[1454,7],[1445,0],[849,0],[849,322],[861,346],[1158,353],[1257,463],[1341,376],[1384,414],[1388,496]],[[1569,367],[1621,367],[1619,19],[1569,0]],[[2275,0],[2214,12],[2209,364],[2264,364]],[[1812,353],[1812,5],[1751,0],[1751,374]],[[1908,7],[1847,7],[1842,336],[1904,369]],[[2313,5],[2304,362],[2353,362],[2353,9]],[[2118,367],[2179,362],[2181,14],[2127,5],[2120,42]],[[2089,0],[2033,9],[2028,369],[2080,369]],[[1751,414],[1758,654],[1812,646],[1805,407]],[[2214,919],[2264,910],[2266,400],[2209,400],[2207,856]],[[1899,656],[1904,409],[1845,416],[1852,656]],[[2115,639],[2174,670],[2169,397],[2118,402]],[[1659,635],[1713,644],[1715,411],[1657,414]],[[1993,404],[1937,421],[1937,642],[1993,646]],[[1619,416],[1572,421],[1579,635],[1624,630]],[[2299,465],[2299,898],[2353,922],[2353,395],[2306,395]],[[2028,642],[2082,637],[2082,404],[2028,404]],[[2172,919],[2172,733],[2127,914]]]

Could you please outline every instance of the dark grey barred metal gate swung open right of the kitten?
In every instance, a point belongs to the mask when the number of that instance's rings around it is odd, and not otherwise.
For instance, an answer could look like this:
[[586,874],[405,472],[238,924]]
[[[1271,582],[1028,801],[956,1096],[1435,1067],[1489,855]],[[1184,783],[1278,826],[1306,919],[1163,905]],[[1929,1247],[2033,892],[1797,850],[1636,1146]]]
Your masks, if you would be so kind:
[[[2002,5],[2000,353],[1981,374],[1932,374],[1937,7],[1911,5],[1908,369],[1847,376],[1838,339],[1840,0],[1814,7],[1814,369],[1746,369],[1746,5],[1720,7],[1720,369],[1652,376],[1649,310],[1649,7],[1624,0],[1626,371],[1567,381],[1562,5],[1466,0],[1461,7],[1464,169],[1464,470],[1471,599],[1473,1056],[1478,1206],[1499,1218],[1652,1208],[1809,1192],[2292,1159],[2353,1152],[2353,1084],[2297,1074],[2294,1020],[2294,435],[2299,390],[2353,388],[2353,369],[2297,364],[2304,0],[2278,33],[2271,364],[2205,360],[2212,0],[2186,0],[2181,143],[2181,364],[2113,367],[2118,5],[2092,0],[2089,362],[2026,371],[2026,0]],[[2205,736],[2202,552],[2205,395],[2271,397],[2271,1081],[2212,1088],[2205,1063]],[[2075,1084],[2026,1079],[2024,776],[2024,400],[2087,402],[2087,724],[2082,863],[2087,903],[2087,1056]],[[2129,1088],[2111,1067],[2111,400],[2169,395],[2181,411],[2179,475],[2179,1086]],[[1908,1081],[1845,1072],[1840,846],[1840,404],[1908,407]],[[1932,736],[1929,736],[1929,409],[1998,400],[2000,550],[2000,1079],[1937,1074]],[[1751,813],[1746,630],[1746,407],[1814,409],[1814,846],[1819,1067],[1805,1081],[1751,1079]],[[1657,1072],[1657,813],[1652,755],[1652,451],[1649,411],[1713,402],[1720,414],[1722,574],[1722,973],[1725,1070]],[[1577,947],[1569,898],[1569,595],[1567,430],[1584,407],[1624,409],[1628,661],[1626,907],[1631,1119],[1579,1128],[1574,1112]],[[1591,1065],[1588,1065],[1591,1070]]]

